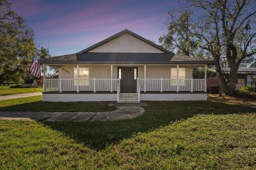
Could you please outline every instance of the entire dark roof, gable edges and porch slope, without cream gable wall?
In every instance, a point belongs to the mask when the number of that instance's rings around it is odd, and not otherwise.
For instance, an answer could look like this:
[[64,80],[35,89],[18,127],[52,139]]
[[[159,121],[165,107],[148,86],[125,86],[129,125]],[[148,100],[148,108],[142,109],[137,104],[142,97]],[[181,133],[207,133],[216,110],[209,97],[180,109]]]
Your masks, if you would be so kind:
[[[87,53],[125,33],[164,53]],[[214,61],[204,60],[198,57],[174,54],[127,29],[76,54],[55,56],[38,61],[44,64],[215,64]]]

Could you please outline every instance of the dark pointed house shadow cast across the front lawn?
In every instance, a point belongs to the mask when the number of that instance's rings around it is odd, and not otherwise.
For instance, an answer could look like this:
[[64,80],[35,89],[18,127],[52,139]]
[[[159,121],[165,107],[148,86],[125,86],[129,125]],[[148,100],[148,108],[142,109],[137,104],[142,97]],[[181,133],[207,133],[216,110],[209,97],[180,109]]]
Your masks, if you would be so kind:
[[152,101],[145,113],[132,120],[113,122],[42,122],[85,146],[100,150],[138,132],[147,132],[198,114],[241,114],[256,112],[255,107],[212,101]]

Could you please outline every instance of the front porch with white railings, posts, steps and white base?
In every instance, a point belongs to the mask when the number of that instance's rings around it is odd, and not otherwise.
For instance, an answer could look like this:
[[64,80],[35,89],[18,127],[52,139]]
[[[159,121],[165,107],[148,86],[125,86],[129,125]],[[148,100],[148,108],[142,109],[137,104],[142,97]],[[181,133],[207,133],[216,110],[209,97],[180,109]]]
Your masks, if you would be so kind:
[[[45,65],[43,65],[45,68]],[[106,66],[104,66],[106,67]],[[205,100],[206,99],[206,69],[205,79],[193,79],[180,77],[180,66],[176,65],[175,78],[147,78],[147,65],[138,66],[116,65],[117,77],[113,75],[113,65],[110,65],[110,78],[81,78],[79,77],[79,65],[76,65],[76,78],[45,79],[44,75],[44,100],[59,101],[117,101],[129,102],[128,97],[120,95],[130,93],[131,101],[140,103],[141,100]],[[132,70],[124,71],[125,67]],[[151,66],[152,67],[152,66]],[[173,66],[170,66],[170,68]],[[132,68],[132,69],[131,69]],[[140,76],[138,75],[140,72]],[[141,78],[143,73],[143,78]],[[106,74],[106,73],[105,73]],[[121,76],[122,74],[122,76]],[[150,75],[148,75],[150,77]],[[131,84],[131,85],[129,85]],[[85,95],[86,94],[86,95]],[[125,95],[126,96],[126,95]],[[129,95],[128,95],[129,96]],[[55,98],[55,99],[54,99]],[[65,100],[67,99],[67,100]],[[127,100],[126,100],[127,99]]]

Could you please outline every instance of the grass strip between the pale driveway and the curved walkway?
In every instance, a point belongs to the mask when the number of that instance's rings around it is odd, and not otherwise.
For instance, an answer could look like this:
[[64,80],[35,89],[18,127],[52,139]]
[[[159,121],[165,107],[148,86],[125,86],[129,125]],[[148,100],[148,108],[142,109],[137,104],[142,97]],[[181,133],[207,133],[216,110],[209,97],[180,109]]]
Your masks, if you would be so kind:
[[108,102],[43,102],[42,100],[43,96],[1,100],[0,111],[102,112],[116,109],[116,106],[108,106]]

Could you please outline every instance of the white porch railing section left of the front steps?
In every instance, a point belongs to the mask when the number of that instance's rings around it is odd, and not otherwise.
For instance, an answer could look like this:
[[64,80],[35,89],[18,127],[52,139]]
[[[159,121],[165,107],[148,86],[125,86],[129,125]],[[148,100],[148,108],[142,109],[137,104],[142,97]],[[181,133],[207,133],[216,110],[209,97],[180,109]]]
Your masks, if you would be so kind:
[[[78,84],[77,84],[78,83]],[[117,91],[118,79],[45,79],[45,91]],[[77,86],[78,85],[78,86]],[[78,89],[77,89],[78,88]]]

